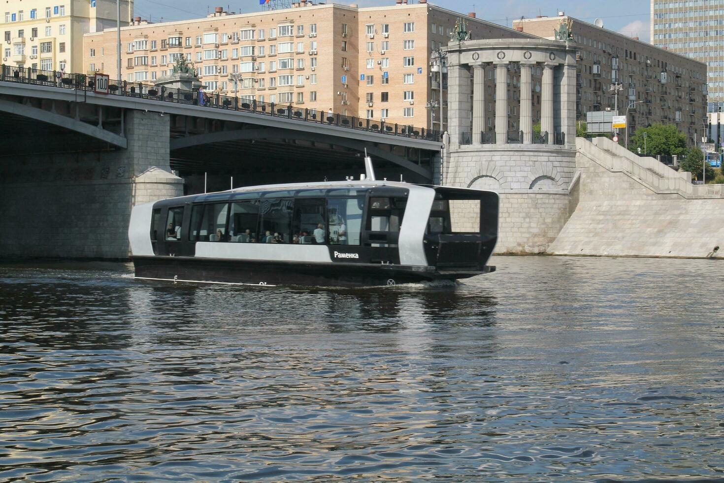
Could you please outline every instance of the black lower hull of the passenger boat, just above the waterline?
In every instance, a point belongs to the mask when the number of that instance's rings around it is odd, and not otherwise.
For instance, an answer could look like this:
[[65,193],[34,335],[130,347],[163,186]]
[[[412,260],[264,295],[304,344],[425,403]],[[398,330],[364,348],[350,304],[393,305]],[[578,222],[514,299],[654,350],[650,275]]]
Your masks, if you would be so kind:
[[135,256],[135,277],[143,280],[237,285],[306,285],[370,287],[456,280],[494,271],[437,272],[432,266],[358,263],[312,263],[264,260],[206,259],[182,256]]

